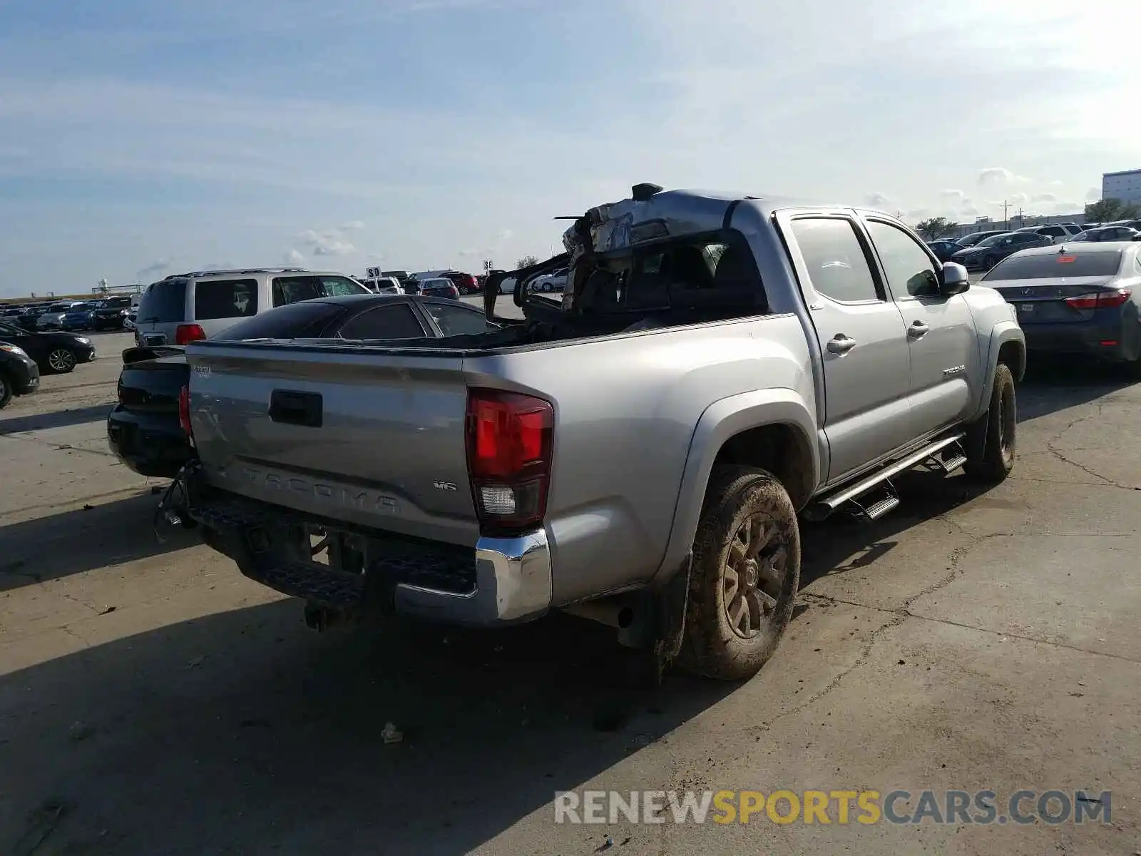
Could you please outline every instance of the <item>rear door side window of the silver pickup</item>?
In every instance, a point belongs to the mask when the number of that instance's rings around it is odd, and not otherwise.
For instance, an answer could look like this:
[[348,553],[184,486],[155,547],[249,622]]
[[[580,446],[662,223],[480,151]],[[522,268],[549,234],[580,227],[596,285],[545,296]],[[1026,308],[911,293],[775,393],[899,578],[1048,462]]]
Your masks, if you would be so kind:
[[881,299],[851,220],[802,218],[792,221],[792,233],[812,285],[822,294],[844,304]]

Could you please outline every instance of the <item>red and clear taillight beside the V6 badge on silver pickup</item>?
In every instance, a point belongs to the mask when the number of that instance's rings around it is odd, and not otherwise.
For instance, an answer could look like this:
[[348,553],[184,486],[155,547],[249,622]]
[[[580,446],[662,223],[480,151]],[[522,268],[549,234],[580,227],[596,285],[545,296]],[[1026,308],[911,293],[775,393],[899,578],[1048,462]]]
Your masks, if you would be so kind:
[[542,523],[551,477],[555,410],[518,393],[468,393],[468,474],[480,532],[517,534]]

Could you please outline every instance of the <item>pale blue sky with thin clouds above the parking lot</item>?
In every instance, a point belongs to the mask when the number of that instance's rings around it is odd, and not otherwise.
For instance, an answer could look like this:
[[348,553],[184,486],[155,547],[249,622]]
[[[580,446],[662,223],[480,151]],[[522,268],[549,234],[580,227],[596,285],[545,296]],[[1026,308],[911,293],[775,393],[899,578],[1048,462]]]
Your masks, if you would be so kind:
[[1079,210],[1141,167],[1141,3],[0,0],[0,293],[477,270],[631,184]]

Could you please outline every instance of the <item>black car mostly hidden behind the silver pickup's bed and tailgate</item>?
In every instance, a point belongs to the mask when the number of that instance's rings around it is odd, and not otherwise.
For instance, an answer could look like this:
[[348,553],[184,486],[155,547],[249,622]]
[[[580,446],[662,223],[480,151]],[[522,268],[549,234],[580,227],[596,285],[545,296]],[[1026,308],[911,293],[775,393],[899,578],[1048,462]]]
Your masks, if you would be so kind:
[[[482,309],[438,298],[351,294],[282,306],[240,321],[213,338],[404,339],[485,333],[497,329]],[[173,478],[191,455],[179,423],[179,393],[191,370],[183,348],[123,352],[119,403],[107,415],[107,443],[129,469]]]

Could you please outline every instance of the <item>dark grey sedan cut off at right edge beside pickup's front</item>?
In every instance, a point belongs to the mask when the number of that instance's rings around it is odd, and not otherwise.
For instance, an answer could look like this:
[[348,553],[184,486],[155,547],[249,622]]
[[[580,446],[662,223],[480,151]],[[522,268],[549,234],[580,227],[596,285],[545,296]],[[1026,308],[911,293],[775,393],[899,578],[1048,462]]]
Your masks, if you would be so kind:
[[1027,350],[1093,355],[1141,377],[1141,242],[1026,250],[981,284],[1015,307]]

